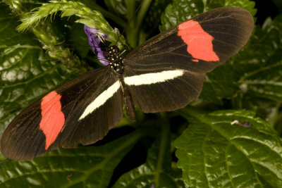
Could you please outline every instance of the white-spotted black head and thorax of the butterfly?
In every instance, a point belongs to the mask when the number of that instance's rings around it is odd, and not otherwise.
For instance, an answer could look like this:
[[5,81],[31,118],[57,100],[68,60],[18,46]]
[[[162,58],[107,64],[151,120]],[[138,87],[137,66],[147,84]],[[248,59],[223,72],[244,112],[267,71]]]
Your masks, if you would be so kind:
[[119,54],[119,49],[117,46],[110,46],[104,51],[104,56],[107,61],[109,61],[109,65],[114,71],[121,75],[123,73],[123,59]]

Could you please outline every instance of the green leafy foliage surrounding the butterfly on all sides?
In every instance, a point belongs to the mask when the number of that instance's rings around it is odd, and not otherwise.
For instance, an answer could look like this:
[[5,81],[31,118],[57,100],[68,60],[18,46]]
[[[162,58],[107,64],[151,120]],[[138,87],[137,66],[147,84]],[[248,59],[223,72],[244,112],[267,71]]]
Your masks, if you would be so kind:
[[[118,46],[134,48],[212,8],[256,13],[248,0],[144,0],[135,13],[140,2],[1,1],[0,134],[33,101],[100,66],[85,48],[83,24],[106,33],[112,44],[115,27],[125,30]],[[273,2],[281,12],[281,2]],[[33,161],[1,156],[0,187],[282,187],[281,102],[279,14],[256,25],[239,54],[207,74],[200,99],[186,108],[137,111],[136,122],[123,118],[92,146],[51,151]],[[252,126],[231,125],[234,120]]]

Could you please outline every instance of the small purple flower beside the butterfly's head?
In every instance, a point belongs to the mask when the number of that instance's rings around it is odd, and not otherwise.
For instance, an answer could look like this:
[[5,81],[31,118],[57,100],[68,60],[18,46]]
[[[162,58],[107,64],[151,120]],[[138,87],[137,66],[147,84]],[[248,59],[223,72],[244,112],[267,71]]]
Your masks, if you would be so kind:
[[104,65],[109,65],[108,61],[103,60],[106,58],[104,56],[104,51],[102,51],[102,49],[100,48],[101,40],[99,39],[99,37],[97,37],[97,34],[101,37],[104,37],[105,39],[107,38],[107,36],[102,32],[98,32],[99,30],[88,27],[87,25],[84,25],[84,31],[88,37],[89,45],[92,46],[94,54],[96,54],[97,52],[97,58],[99,58],[99,61]]

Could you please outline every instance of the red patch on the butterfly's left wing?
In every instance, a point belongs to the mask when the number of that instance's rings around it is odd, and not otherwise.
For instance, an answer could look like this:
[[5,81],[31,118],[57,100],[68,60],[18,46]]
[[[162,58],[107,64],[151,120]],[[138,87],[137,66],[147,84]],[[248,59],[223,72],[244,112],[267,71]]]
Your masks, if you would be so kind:
[[53,91],[44,96],[41,102],[42,119],[39,129],[44,132],[46,137],[45,149],[48,149],[56,140],[65,123],[65,116],[61,111],[60,99],[61,95]]

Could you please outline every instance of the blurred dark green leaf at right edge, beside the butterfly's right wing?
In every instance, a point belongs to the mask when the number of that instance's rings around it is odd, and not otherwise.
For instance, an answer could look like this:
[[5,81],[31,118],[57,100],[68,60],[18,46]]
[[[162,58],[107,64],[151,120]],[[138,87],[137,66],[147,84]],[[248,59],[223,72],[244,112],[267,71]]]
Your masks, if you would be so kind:
[[[240,53],[241,59],[247,62],[244,75],[239,80],[240,87],[247,94],[281,102],[282,15],[278,15],[273,22],[266,21],[262,29],[257,27],[249,47],[259,48],[259,51],[246,49]],[[243,64],[243,61],[240,62]],[[243,67],[242,64],[240,66]]]

